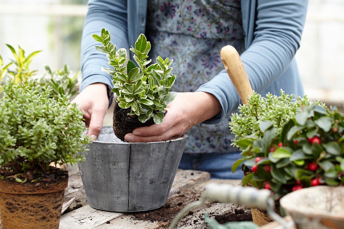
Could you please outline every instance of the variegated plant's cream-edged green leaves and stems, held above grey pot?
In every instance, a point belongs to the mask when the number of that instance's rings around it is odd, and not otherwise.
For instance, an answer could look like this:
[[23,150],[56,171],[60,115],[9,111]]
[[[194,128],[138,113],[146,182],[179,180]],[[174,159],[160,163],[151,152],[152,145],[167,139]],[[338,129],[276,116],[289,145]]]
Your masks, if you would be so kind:
[[135,47],[130,51],[134,53],[134,62],[128,61],[127,67],[124,66],[127,59],[125,48],[116,50],[116,46],[110,41],[110,33],[105,28],[101,30],[101,35],[92,35],[93,39],[102,43],[103,46],[96,46],[100,52],[107,53],[109,65],[112,68],[101,68],[112,76],[112,83],[118,96],[117,102],[123,109],[131,108],[128,115],[137,115],[141,122],[146,122],[153,117],[155,123],[162,123],[165,108],[171,102],[176,93],[170,92],[175,81],[175,75],[172,74],[172,59],[156,58],[157,63],[150,64],[148,53],[151,44],[146,36],[140,34]]

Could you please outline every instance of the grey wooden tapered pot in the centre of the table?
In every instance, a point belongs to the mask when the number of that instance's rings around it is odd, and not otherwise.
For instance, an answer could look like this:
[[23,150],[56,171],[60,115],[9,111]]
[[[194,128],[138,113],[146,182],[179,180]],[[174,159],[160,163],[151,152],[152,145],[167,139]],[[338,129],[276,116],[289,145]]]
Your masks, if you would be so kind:
[[150,143],[121,142],[103,127],[78,163],[88,204],[105,211],[133,212],[162,207],[169,195],[187,135]]

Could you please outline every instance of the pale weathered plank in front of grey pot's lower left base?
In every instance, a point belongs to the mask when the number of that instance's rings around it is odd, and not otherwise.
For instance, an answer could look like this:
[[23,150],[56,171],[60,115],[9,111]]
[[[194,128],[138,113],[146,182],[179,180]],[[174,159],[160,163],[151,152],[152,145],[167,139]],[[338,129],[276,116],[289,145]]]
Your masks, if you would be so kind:
[[60,229],[89,229],[122,216],[122,213],[101,211],[86,205],[61,217]]

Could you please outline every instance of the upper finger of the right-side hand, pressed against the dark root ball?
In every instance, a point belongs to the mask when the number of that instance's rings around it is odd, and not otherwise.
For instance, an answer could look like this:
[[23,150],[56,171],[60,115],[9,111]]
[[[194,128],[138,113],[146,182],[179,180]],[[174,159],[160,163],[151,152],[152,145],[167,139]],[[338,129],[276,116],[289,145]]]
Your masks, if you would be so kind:
[[158,136],[163,135],[168,130],[170,130],[175,124],[177,124],[178,119],[172,118],[173,115],[166,114],[164,121],[161,124],[153,124],[149,127],[139,127],[133,130],[133,135],[148,137],[148,136]]

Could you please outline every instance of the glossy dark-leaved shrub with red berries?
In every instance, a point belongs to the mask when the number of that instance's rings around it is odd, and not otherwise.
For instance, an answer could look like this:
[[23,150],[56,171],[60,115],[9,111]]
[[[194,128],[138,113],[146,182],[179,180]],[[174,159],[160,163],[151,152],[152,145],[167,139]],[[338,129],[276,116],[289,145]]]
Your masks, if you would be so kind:
[[244,162],[252,173],[243,179],[273,191],[279,199],[294,190],[344,184],[344,114],[322,104],[302,106],[276,132],[272,121],[259,123],[261,136],[249,135],[237,144],[245,148]]

